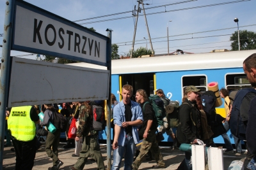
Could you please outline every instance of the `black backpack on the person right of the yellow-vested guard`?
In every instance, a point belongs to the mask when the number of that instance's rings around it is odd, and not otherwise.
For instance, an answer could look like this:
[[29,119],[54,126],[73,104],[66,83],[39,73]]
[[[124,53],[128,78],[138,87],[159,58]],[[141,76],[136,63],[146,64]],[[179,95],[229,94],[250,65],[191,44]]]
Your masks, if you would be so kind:
[[67,118],[64,117],[61,113],[58,111],[53,112],[53,118],[54,118],[54,126],[56,129],[60,129],[61,132],[65,132],[67,130],[68,121]]

